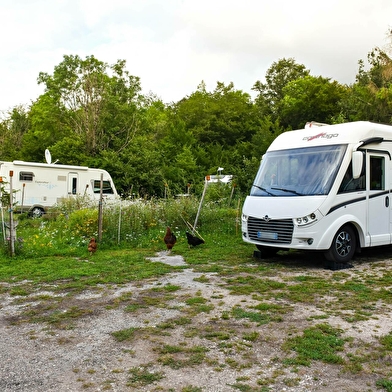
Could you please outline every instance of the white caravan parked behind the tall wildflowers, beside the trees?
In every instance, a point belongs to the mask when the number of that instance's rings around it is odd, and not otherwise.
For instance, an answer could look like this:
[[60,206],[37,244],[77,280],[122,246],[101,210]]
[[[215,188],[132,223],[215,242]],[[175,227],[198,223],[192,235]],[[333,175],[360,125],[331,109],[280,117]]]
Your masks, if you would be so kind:
[[29,211],[34,217],[41,216],[65,198],[85,195],[99,201],[101,175],[103,197],[116,199],[116,188],[106,170],[51,163],[0,161],[0,176],[6,191],[9,191],[12,181],[15,210]]

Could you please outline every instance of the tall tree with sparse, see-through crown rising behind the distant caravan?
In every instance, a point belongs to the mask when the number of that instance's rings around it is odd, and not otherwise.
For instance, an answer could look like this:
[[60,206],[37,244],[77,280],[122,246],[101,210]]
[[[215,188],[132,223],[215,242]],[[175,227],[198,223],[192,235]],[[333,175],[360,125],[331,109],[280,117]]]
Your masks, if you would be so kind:
[[87,56],[64,56],[53,75],[41,72],[38,83],[63,115],[61,121],[84,142],[91,155],[124,148],[138,127],[139,78],[125,70],[125,61],[109,66]]

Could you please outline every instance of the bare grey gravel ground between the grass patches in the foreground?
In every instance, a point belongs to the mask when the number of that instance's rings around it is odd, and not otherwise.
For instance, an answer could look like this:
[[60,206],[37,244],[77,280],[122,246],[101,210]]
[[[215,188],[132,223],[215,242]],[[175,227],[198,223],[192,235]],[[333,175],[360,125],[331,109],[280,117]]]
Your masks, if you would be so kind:
[[[172,265],[185,265],[178,255],[165,252],[151,259]],[[386,261],[387,266],[390,260]],[[355,273],[366,270],[365,264],[355,265]],[[383,264],[385,269],[385,264]],[[354,273],[347,270],[347,274]],[[296,274],[294,270],[288,274]],[[313,269],[311,274],[325,276],[334,272]],[[373,391],[376,390],[377,375],[372,372],[353,374],[342,372],[341,367],[315,362],[310,367],[300,367],[295,372],[283,367],[281,345],[290,330],[301,330],[309,322],[309,316],[321,313],[314,305],[295,305],[294,311],[285,316],[282,323],[257,326],[260,338],[257,343],[247,344],[242,338],[249,332],[249,323],[244,320],[229,320],[225,331],[229,340],[203,339],[200,333],[190,334],[189,325],[176,325],[169,333],[157,328],[168,320],[183,316],[184,303],[172,300],[168,306],[153,307],[125,312],[124,307],[105,307],[105,303],[132,293],[135,298],[151,288],[173,284],[181,286],[176,298],[186,295],[200,295],[209,299],[213,309],[198,314],[193,323],[195,330],[214,331],[221,328],[222,312],[235,305],[247,306],[258,301],[241,295],[231,295],[216,274],[204,274],[207,279],[197,280],[201,274],[184,269],[151,280],[140,286],[130,283],[121,287],[100,287],[99,291],[84,292],[70,299],[88,304],[91,313],[75,320],[73,328],[59,329],[45,323],[20,322],[18,317],[26,309],[39,305],[44,295],[53,292],[39,292],[28,301],[19,297],[0,294],[0,391],[184,391],[184,392],[225,392],[225,391]],[[282,279],[282,277],[279,277]],[[36,298],[34,298],[36,297]],[[72,303],[70,304],[72,305]],[[390,307],[383,307],[377,317],[370,320],[348,323],[339,316],[331,316],[328,323],[342,328],[346,336],[353,337],[361,345],[376,344],[377,338],[391,331]],[[19,320],[19,322],[16,322]],[[140,335],[138,339],[117,341],[112,333],[127,328],[151,328],[151,334]],[[184,343],[186,342],[186,343]],[[227,342],[227,343],[226,343]],[[208,349],[208,361],[186,367],[165,366],[159,349],[165,345],[184,344],[187,347],[204,346]],[[222,346],[226,344],[226,348]],[[235,350],[233,347],[241,347]],[[159,359],[160,358],[160,359]],[[390,361],[392,363],[392,359]],[[251,364],[251,365],[249,365]],[[163,378],[152,383],[143,383],[141,373],[135,369],[148,370],[148,374]],[[133,373],[132,373],[133,370]],[[139,382],[138,382],[139,377]],[[263,387],[257,380],[270,380]],[[271,381],[272,380],[272,381]],[[247,385],[245,389],[243,385]],[[242,389],[241,389],[242,385]],[[264,389],[263,389],[264,388]]]

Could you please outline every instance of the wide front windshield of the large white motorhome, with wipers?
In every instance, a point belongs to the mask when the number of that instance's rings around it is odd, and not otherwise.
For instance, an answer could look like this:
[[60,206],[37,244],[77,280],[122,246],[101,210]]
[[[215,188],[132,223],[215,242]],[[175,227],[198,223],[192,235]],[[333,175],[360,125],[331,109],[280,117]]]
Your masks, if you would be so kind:
[[251,196],[327,195],[347,145],[270,151],[265,154]]

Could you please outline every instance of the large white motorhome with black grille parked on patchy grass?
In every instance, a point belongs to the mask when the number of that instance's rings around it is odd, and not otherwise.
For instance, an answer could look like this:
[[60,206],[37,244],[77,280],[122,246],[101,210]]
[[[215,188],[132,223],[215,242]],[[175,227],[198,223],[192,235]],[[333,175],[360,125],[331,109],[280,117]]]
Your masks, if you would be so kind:
[[348,263],[391,244],[392,126],[308,123],[279,135],[263,156],[242,210],[242,238],[261,255],[323,251]]

